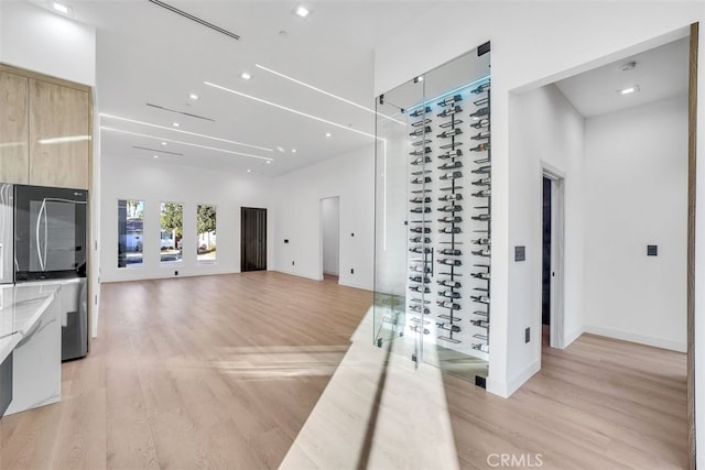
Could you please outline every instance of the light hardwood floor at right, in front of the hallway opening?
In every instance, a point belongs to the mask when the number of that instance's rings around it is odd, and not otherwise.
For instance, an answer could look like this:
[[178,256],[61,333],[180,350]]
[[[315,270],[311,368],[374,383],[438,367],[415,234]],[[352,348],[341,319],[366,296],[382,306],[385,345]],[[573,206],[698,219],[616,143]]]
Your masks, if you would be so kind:
[[492,453],[541,455],[544,469],[687,468],[684,353],[583,335],[544,345],[509,400],[447,374],[444,387],[462,468],[490,468]]

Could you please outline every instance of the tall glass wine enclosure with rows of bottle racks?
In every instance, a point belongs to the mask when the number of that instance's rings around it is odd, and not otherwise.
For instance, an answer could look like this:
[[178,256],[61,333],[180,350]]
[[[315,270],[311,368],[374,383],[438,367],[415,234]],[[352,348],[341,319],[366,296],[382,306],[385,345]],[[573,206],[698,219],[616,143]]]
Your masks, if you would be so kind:
[[[485,384],[489,364],[489,44],[378,98],[376,337]],[[389,119],[387,116],[393,118]]]

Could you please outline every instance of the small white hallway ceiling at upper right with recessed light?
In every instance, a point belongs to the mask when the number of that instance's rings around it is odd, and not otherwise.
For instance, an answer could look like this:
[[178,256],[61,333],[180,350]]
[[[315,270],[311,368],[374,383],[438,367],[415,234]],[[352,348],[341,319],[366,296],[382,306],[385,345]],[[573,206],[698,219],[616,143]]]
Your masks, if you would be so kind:
[[[634,68],[621,66],[634,62]],[[555,85],[586,118],[687,94],[688,39],[684,37],[611,64],[556,81]],[[639,86],[639,91],[618,90]]]

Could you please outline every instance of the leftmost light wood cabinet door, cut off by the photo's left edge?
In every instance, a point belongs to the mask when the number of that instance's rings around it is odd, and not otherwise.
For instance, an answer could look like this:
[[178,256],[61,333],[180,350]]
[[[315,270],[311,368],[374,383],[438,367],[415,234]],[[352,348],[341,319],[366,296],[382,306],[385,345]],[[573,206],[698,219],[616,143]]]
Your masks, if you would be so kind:
[[30,182],[28,79],[0,70],[0,179]]

